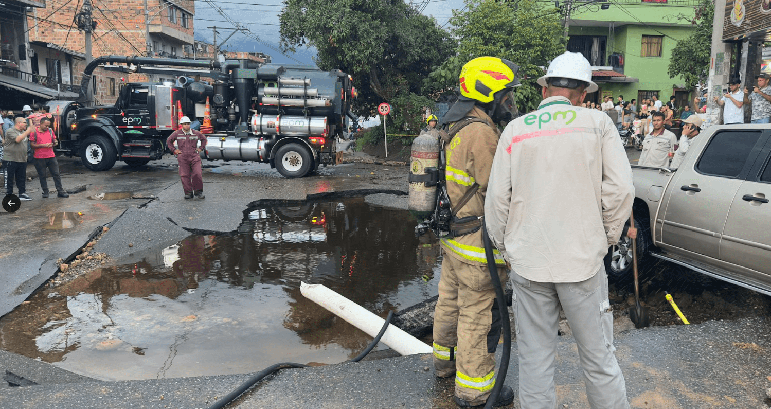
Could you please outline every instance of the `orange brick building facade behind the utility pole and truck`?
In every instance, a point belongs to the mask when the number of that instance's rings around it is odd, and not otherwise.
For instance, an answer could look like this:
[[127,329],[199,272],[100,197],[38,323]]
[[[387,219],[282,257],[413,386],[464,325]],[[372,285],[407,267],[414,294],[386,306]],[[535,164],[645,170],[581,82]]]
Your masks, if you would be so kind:
[[[44,42],[72,50],[74,54],[86,52],[86,39],[73,19],[82,12],[82,2],[51,0],[49,8],[33,8],[29,15],[30,42]],[[183,58],[185,46],[194,45],[193,17],[195,0],[102,0],[93,2],[92,19],[96,29],[92,32],[92,56],[164,56]],[[147,20],[148,24],[145,24]],[[33,26],[34,25],[34,26]],[[148,36],[149,34],[149,36]],[[39,67],[45,66],[46,72],[52,66],[50,61],[39,53],[32,56]],[[71,61],[70,61],[71,60]],[[85,60],[65,59],[55,69],[65,68],[72,76],[72,83],[79,85]],[[35,63],[33,71],[35,69]],[[94,97],[98,103],[113,103],[120,86],[120,78],[127,82],[147,81],[143,74],[107,72],[103,69],[94,71]],[[50,73],[49,73],[50,75]]]

